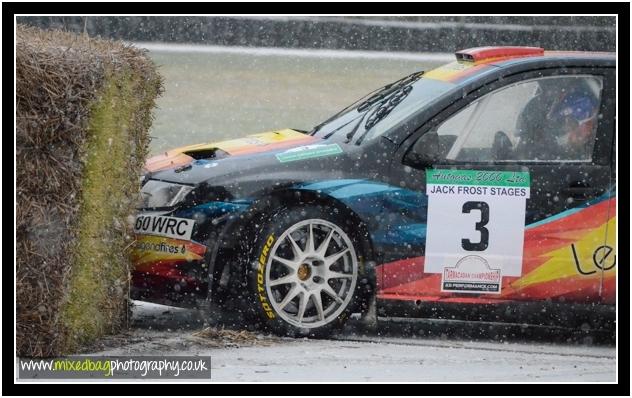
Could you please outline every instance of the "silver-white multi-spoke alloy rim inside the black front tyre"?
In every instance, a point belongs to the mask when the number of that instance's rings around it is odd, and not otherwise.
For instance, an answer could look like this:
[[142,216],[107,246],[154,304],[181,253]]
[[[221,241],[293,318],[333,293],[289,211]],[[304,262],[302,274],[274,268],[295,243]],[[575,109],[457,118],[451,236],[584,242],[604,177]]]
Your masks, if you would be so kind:
[[307,329],[334,321],[349,306],[358,280],[351,239],[321,219],[300,221],[285,230],[270,250],[265,269],[274,311],[289,324]]

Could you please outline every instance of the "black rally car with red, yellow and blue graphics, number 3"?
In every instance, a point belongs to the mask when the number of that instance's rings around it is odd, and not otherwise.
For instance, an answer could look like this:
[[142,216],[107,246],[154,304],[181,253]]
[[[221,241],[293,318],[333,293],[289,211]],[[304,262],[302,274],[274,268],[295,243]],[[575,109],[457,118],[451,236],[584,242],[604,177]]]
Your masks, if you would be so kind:
[[292,335],[373,309],[612,314],[615,74],[613,53],[468,49],[309,132],[153,157],[133,298]]

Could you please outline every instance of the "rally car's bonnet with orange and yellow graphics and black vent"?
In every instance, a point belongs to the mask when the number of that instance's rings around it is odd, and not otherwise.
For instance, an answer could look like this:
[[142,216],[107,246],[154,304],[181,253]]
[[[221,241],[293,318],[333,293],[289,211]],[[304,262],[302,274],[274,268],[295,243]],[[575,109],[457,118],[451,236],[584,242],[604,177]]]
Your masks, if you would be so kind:
[[266,189],[323,179],[366,178],[358,146],[279,130],[242,139],[193,145],[148,162],[146,177],[198,186],[199,201],[221,191],[222,197],[247,197]]

